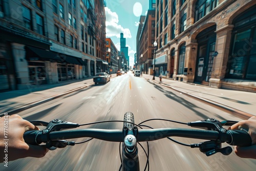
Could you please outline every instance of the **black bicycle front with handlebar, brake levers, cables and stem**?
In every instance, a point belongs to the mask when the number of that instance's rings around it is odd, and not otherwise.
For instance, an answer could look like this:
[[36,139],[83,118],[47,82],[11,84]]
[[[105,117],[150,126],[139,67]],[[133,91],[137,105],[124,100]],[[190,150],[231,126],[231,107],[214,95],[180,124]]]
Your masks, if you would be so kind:
[[[191,127],[197,127],[199,129],[204,130],[196,130],[196,129],[182,129],[182,128],[162,128],[162,129],[153,129],[153,127],[143,125],[147,121],[151,120],[163,120],[176,122],[180,124],[186,124]],[[79,126],[96,124],[96,123],[104,123],[104,122],[123,122],[122,130],[105,130],[105,129],[83,129],[83,130],[66,130],[66,129],[74,129]],[[218,152],[223,155],[229,155],[232,152],[232,148],[230,146],[226,146],[222,148],[222,143],[226,142],[230,145],[239,145],[239,146],[249,146],[251,145],[251,137],[250,135],[243,130],[226,130],[223,128],[224,125],[230,126],[237,121],[218,121],[213,118],[209,118],[206,120],[199,120],[194,122],[178,122],[174,120],[168,119],[149,119],[141,122],[140,124],[134,123],[134,115],[131,112],[126,112],[124,114],[123,121],[99,121],[93,123],[86,124],[77,124],[67,121],[61,121],[59,119],[54,119],[52,121],[44,122],[44,121],[31,121],[34,125],[42,125],[46,126],[46,129],[41,131],[28,131],[24,134],[24,140],[26,143],[32,145],[39,145],[41,143],[45,143],[44,145],[54,150],[56,148],[63,148],[67,145],[75,145],[84,142],[88,142],[93,138],[104,140],[104,141],[112,141],[119,142],[119,155],[121,160],[121,165],[119,170],[140,170],[139,167],[139,157],[138,157],[138,148],[137,143],[142,147],[139,142],[147,142],[147,153],[146,154],[147,161],[145,165],[149,170],[149,148],[148,141],[155,141],[162,138],[168,138],[176,143],[190,146],[191,148],[199,148],[200,152],[206,154],[206,156],[214,155]],[[141,130],[138,129],[140,127]],[[142,127],[147,127],[150,129],[142,129]],[[177,137],[186,137],[186,138],[194,138],[194,139],[204,139],[209,140],[205,142],[200,142],[196,144],[183,144],[176,140],[173,140],[169,137],[177,136]],[[90,139],[77,142],[67,141],[65,139],[74,139],[74,138],[82,138],[82,137],[90,137]],[[122,143],[122,153],[120,152]]]

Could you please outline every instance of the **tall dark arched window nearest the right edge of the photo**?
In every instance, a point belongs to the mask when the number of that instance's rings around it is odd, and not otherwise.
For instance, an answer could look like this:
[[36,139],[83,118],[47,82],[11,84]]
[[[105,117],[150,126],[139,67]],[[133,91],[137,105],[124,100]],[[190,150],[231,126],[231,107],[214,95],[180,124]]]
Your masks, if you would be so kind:
[[256,80],[256,11],[253,6],[233,20],[228,78]]

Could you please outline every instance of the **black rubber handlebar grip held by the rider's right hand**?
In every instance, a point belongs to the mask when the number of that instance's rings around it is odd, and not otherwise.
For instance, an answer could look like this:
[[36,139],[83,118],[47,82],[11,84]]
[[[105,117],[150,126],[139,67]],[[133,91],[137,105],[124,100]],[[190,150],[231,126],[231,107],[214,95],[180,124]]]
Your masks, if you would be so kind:
[[227,142],[230,145],[238,145],[238,146],[250,146],[251,145],[251,137],[246,131],[228,130],[227,134],[231,135],[231,141]]

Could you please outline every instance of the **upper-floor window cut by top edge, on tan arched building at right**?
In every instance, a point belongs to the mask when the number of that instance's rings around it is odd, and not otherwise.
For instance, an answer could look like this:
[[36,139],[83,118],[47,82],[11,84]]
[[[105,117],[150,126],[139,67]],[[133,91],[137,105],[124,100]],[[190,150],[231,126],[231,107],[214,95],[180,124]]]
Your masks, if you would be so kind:
[[219,0],[198,0],[195,8],[195,22],[219,5]]

